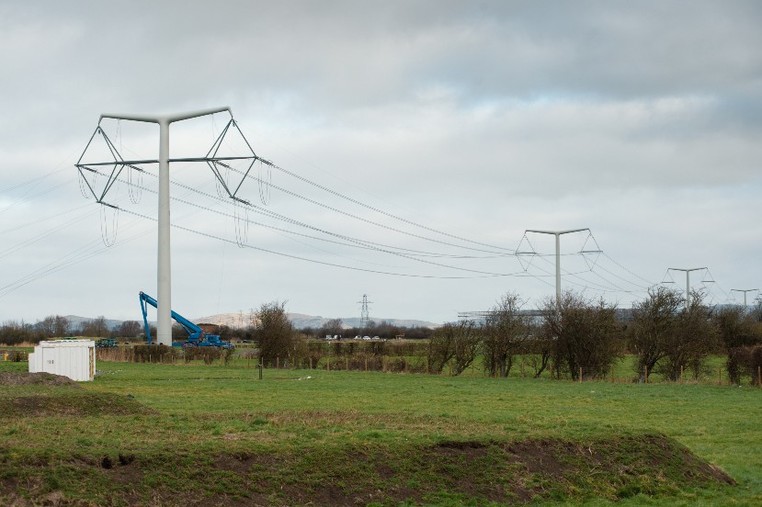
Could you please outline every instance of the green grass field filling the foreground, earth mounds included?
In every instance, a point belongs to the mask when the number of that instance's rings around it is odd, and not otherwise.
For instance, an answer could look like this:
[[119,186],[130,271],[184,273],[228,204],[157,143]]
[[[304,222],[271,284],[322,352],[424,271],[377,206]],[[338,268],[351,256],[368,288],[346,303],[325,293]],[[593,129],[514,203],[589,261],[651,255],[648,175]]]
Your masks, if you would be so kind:
[[[515,475],[522,494],[507,503],[762,505],[758,388],[324,370],[265,370],[259,380],[245,363],[98,370],[79,387],[0,385],[6,500],[490,505],[503,498],[495,484]],[[667,445],[662,436],[737,484],[639,472],[642,453]],[[534,465],[506,461],[511,444],[514,454],[533,449]],[[566,472],[537,465],[561,447],[571,449],[559,462]],[[613,458],[580,462],[577,473],[577,451]],[[614,470],[624,462],[634,483]]]

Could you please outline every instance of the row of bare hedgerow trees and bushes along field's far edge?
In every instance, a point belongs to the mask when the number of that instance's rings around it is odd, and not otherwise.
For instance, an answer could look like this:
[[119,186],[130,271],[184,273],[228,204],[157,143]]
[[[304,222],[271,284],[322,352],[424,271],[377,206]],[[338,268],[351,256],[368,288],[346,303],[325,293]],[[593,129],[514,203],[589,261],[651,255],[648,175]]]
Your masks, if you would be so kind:
[[[753,311],[711,307],[699,291],[686,304],[681,293],[663,287],[649,291],[629,312],[574,292],[564,293],[559,301],[547,300],[540,312],[523,311],[523,304],[517,294],[508,293],[483,321],[451,322],[431,332],[425,347],[417,347],[425,354],[425,371],[460,375],[477,367],[490,376],[507,377],[521,357],[535,377],[550,372],[556,378],[602,379],[631,354],[638,380],[648,382],[658,374],[676,381],[684,375],[698,378],[710,355],[726,354],[731,381],[748,376],[759,382],[762,305]],[[294,330],[283,303],[262,305],[254,315],[251,338],[264,365],[297,366],[325,352],[324,347],[310,347],[307,336]],[[384,347],[368,349],[371,355],[375,349]],[[335,344],[327,350],[340,349]]]

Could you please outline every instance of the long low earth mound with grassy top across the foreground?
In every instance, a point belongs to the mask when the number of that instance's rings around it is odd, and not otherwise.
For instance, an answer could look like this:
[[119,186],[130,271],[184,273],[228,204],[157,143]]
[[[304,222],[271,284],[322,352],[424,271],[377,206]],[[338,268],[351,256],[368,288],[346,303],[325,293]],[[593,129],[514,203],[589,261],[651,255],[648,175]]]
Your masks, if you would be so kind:
[[[97,476],[105,479],[100,484],[111,486],[89,497],[69,492],[65,500],[102,496],[114,504],[132,505],[150,498],[157,505],[183,507],[515,505],[580,503],[593,498],[617,501],[633,496],[642,496],[644,501],[669,499],[695,488],[734,484],[727,474],[663,435],[585,442],[447,441],[400,448],[357,444],[269,452],[226,453],[208,448],[192,456],[77,456],[65,463],[68,474],[79,474],[83,484]],[[39,468],[42,474],[53,462],[0,461],[0,472],[7,465],[27,472]],[[0,499],[12,491],[3,491],[0,481]]]

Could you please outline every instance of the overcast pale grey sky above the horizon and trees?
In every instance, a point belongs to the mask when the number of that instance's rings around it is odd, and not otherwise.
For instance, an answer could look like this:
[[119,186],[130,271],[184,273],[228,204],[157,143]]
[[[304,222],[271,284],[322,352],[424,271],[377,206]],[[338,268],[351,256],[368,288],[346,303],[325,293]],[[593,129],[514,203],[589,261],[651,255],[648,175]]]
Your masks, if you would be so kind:
[[[74,164],[102,113],[218,106],[278,168],[255,166],[236,207],[205,164],[172,165],[188,317],[275,300],[355,317],[363,294],[376,320],[507,292],[536,307],[554,243],[526,229],[590,229],[561,237],[564,290],[629,307],[684,289],[668,268],[708,267],[691,286],[740,302],[762,287],[760,26],[753,0],[0,0],[0,321],[139,319],[157,167],[123,172],[117,215]],[[228,120],[174,124],[172,156]],[[157,126],[101,127],[124,159],[158,157]]]

